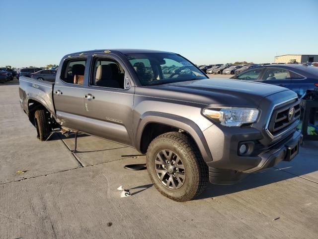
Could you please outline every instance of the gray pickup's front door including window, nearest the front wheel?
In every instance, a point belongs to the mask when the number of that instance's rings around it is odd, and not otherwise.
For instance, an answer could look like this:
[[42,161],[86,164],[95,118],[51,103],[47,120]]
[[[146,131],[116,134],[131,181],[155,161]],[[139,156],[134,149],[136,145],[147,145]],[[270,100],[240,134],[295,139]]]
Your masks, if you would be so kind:
[[89,85],[84,89],[84,116],[88,133],[133,145],[133,100],[135,88],[123,62],[113,54],[92,58]]

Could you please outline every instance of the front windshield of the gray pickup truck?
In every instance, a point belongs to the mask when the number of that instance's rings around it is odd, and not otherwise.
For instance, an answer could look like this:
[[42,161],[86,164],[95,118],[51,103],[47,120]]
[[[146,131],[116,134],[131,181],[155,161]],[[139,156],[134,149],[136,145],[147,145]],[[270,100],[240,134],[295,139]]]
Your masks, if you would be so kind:
[[172,53],[126,54],[143,86],[207,79],[192,63]]

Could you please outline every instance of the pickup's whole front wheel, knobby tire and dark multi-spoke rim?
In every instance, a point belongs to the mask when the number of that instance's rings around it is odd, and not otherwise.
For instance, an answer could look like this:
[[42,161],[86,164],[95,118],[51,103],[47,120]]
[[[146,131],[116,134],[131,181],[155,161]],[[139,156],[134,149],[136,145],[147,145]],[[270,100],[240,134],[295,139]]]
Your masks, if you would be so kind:
[[149,145],[146,160],[154,186],[174,201],[193,199],[208,183],[208,166],[187,134],[168,132],[159,135]]

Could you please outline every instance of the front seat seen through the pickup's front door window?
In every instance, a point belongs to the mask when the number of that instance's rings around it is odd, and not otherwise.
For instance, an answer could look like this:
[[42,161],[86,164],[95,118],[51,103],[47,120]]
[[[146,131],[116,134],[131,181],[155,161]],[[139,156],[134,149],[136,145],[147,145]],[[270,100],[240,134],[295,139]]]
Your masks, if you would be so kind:
[[97,67],[95,85],[100,87],[121,88],[118,81],[114,80],[110,65],[100,65]]

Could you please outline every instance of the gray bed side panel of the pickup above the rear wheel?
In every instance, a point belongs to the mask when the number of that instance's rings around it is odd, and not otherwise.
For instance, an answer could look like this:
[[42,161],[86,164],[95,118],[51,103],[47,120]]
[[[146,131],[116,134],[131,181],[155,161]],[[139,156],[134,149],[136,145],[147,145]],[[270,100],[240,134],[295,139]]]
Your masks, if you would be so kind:
[[28,114],[28,104],[41,103],[55,116],[53,104],[54,82],[40,81],[29,77],[19,78],[19,95],[22,109]]

